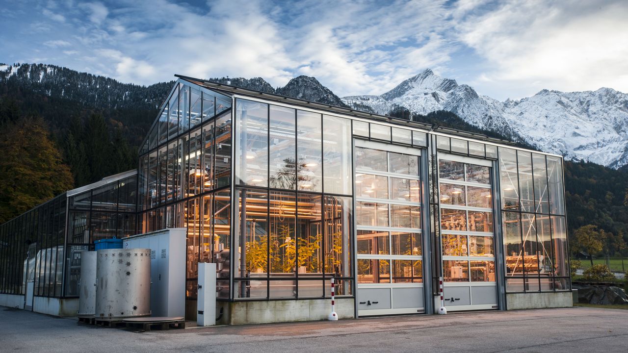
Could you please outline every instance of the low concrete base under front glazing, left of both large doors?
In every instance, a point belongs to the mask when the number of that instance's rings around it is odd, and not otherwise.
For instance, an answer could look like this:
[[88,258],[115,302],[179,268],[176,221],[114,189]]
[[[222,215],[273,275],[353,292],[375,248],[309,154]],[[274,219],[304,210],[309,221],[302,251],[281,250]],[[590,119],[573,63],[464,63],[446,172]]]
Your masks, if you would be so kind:
[[[354,318],[354,298],[336,298],[338,318]],[[330,299],[234,301],[230,303],[230,324],[327,320]]]

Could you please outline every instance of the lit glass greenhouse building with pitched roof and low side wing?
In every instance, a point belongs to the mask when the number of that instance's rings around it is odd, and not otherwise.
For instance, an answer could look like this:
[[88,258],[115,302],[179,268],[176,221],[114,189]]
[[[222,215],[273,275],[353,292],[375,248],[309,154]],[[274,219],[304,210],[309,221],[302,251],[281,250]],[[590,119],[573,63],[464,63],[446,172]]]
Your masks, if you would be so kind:
[[341,318],[434,313],[441,277],[449,312],[571,306],[561,156],[182,76],[138,170],[1,225],[0,305],[69,315],[79,251],[180,227],[190,319],[206,262],[231,324],[326,318],[331,278]]

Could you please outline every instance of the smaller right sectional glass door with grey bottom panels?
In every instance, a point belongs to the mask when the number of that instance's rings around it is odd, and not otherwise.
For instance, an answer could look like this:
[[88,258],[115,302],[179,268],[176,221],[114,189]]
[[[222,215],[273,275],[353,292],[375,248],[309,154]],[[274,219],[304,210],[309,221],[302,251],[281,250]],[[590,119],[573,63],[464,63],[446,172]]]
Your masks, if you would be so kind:
[[443,297],[448,312],[498,308],[491,167],[486,160],[438,157]]

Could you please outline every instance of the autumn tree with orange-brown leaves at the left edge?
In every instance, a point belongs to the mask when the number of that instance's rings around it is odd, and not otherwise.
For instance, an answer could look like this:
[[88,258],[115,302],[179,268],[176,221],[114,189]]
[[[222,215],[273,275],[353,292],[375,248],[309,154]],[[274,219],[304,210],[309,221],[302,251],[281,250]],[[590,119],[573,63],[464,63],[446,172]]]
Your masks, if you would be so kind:
[[72,188],[70,168],[40,117],[21,117],[0,131],[0,223]]

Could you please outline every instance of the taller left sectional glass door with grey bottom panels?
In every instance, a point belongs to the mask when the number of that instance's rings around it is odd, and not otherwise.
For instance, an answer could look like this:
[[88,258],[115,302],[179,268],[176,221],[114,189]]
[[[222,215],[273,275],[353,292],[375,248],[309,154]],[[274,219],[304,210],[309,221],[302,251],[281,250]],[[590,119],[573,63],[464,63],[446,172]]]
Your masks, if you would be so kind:
[[355,141],[358,315],[425,309],[420,150]]

